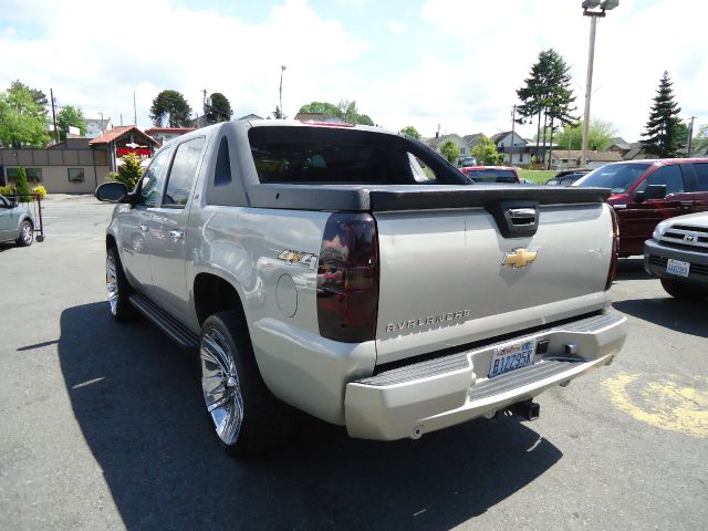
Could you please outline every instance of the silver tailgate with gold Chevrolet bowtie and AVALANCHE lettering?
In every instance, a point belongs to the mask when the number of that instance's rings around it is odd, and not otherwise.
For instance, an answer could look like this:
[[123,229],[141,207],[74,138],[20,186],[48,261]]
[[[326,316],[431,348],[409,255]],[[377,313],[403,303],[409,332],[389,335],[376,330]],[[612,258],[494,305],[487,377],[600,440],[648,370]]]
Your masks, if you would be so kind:
[[540,205],[535,233],[508,238],[481,207],[374,217],[381,254],[377,364],[608,303],[612,219],[603,202]]

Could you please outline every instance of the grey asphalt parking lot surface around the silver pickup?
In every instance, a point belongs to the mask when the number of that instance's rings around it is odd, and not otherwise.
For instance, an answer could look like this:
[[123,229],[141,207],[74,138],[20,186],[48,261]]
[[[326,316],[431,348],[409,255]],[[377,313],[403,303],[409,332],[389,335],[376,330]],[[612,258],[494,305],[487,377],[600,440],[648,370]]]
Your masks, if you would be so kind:
[[638,259],[613,289],[621,356],[541,395],[539,420],[384,444],[303,419],[283,452],[239,462],[194,361],[111,320],[111,207],[62,196],[44,215],[43,243],[0,243],[2,530],[706,529],[708,302],[670,299]]

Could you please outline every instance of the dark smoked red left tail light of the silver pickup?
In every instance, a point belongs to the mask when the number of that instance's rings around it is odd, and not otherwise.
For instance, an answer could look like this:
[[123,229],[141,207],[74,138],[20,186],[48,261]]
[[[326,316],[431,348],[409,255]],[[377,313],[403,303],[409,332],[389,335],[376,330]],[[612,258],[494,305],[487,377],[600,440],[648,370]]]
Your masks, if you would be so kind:
[[346,343],[371,341],[378,309],[378,238],[368,214],[333,214],[317,262],[320,335]]

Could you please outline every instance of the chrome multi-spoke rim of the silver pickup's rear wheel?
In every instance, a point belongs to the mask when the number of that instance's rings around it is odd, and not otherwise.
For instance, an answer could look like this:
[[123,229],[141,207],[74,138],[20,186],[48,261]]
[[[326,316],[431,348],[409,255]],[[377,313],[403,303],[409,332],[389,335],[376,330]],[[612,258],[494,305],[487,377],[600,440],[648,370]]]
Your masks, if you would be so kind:
[[235,445],[243,424],[243,395],[231,347],[223,335],[209,327],[201,335],[201,391],[217,436]]

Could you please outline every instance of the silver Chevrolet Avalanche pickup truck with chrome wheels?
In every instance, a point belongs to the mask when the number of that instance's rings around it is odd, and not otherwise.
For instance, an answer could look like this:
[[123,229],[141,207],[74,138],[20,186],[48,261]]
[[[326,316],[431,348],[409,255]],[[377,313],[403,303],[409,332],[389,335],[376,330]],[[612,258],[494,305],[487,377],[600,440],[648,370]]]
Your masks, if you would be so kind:
[[379,440],[535,418],[625,340],[607,195],[473,185],[408,137],[284,121],[195,131],[96,190],[113,316],[198,350],[236,455],[285,439],[292,407]]

